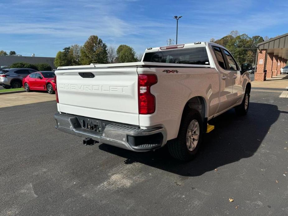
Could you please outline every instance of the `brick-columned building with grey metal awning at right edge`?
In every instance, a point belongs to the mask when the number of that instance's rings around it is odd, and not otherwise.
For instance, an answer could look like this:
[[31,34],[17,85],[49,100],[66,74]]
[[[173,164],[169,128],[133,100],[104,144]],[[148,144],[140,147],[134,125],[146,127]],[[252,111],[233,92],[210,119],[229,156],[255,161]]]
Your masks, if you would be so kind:
[[287,65],[288,33],[257,44],[257,70],[255,80],[264,81],[266,78],[280,75],[280,69]]

